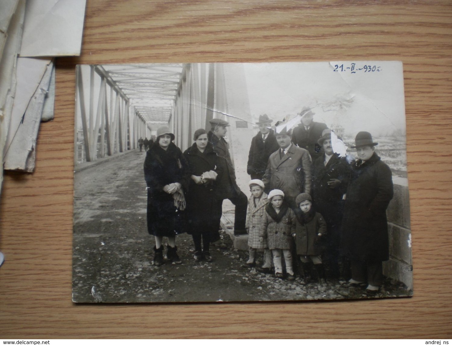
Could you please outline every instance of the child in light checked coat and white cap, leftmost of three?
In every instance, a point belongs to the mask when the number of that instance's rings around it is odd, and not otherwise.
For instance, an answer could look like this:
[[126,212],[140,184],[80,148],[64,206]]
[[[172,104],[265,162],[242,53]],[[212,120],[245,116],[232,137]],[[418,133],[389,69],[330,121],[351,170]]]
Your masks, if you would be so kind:
[[264,182],[261,180],[251,180],[248,182],[251,196],[248,199],[248,209],[246,213],[246,230],[248,232],[248,248],[250,258],[246,262],[248,267],[254,267],[256,251],[264,249],[264,265],[257,269],[262,273],[269,273],[272,267],[272,254],[268,249],[267,241],[260,241],[259,232],[264,226],[265,206],[268,204],[267,194],[264,192]]

